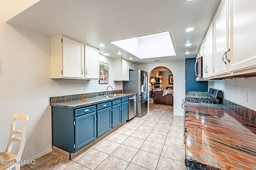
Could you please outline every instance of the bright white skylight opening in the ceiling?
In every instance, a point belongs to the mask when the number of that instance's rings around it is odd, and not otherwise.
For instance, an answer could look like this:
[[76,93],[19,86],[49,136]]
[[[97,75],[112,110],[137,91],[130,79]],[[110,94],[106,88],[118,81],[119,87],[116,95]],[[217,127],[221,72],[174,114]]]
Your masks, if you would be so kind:
[[111,43],[139,59],[176,56],[170,31],[113,41]]

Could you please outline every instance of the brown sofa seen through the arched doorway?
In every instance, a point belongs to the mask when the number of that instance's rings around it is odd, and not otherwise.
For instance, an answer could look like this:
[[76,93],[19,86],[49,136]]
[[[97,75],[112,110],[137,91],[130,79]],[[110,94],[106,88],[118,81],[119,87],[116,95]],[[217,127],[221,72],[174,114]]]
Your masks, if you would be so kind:
[[173,105],[173,96],[172,94],[168,93],[164,95],[164,91],[154,91],[152,98],[154,100],[154,104],[168,104]]

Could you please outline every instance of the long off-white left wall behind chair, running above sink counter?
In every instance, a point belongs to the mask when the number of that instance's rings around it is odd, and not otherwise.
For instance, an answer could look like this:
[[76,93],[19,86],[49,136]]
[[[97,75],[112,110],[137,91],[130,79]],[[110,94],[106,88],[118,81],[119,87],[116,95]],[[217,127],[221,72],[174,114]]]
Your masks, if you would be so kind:
[[[12,115],[27,114],[22,159],[35,159],[52,149],[50,97],[105,91],[114,85],[113,59],[100,56],[101,62],[109,64],[109,84],[51,79],[50,37],[5,23],[4,0],[0,0],[0,37],[0,152],[8,143]],[[115,85],[114,90],[122,89],[122,82]]]

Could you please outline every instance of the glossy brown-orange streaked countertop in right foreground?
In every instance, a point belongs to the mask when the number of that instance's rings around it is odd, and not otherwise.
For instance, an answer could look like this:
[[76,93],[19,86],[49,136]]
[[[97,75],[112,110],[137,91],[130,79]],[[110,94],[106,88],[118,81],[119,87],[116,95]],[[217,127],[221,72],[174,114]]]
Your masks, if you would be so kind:
[[256,123],[220,104],[186,103],[186,159],[198,170],[255,170]]

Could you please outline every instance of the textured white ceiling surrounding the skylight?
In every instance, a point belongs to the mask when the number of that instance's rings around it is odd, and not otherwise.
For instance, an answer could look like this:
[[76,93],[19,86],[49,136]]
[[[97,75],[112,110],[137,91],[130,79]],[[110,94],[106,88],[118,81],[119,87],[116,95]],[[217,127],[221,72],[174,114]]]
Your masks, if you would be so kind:
[[[7,23],[48,36],[66,35],[110,57],[127,59],[129,53],[110,41],[171,31],[176,57],[138,59],[137,64],[184,61],[196,57],[221,0],[40,0]],[[185,32],[187,27],[195,27]],[[185,47],[190,41],[192,46]],[[106,45],[99,47],[100,44]],[[186,51],[190,54],[185,55]]]

